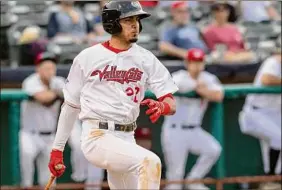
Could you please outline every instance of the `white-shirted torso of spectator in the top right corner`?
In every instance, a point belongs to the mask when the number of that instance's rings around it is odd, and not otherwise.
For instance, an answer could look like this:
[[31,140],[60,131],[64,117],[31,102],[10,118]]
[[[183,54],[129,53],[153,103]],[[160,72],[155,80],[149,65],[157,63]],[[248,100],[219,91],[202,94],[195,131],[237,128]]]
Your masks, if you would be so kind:
[[239,1],[239,9],[244,21],[281,20],[271,1]]

